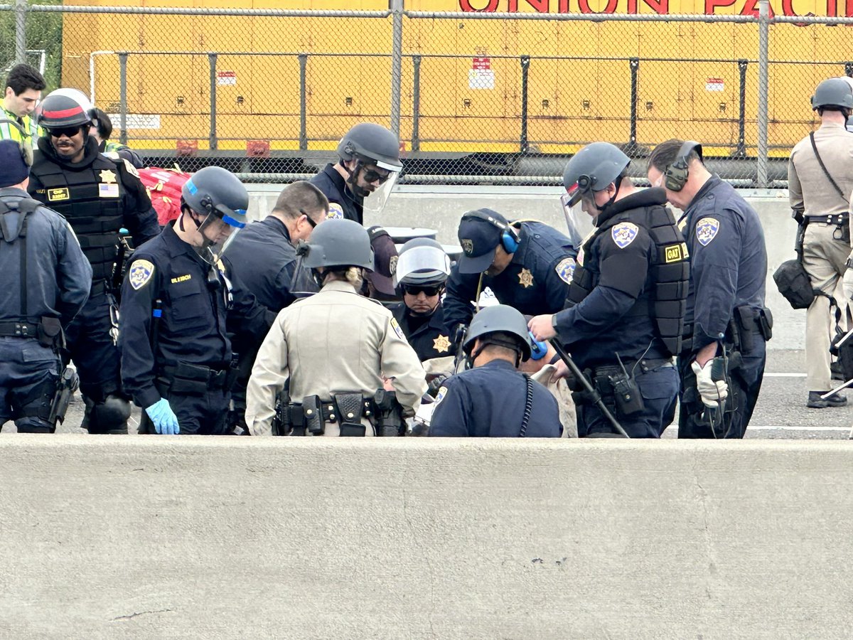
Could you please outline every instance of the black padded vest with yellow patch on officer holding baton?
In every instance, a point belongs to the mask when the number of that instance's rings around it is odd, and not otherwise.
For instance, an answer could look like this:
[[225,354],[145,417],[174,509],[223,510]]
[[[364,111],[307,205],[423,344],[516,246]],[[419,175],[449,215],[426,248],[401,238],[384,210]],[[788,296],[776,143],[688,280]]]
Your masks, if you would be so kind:
[[[647,230],[654,242],[649,276],[653,288],[638,298],[627,316],[650,315],[654,318],[655,334],[663,341],[670,356],[682,351],[684,312],[687,309],[690,263],[684,236],[669,209],[661,205],[638,207],[607,218],[593,236],[583,245],[589,248],[602,233],[621,222],[632,222]],[[598,274],[577,265],[572,276],[572,286],[566,296],[568,306],[577,305],[598,284]]]

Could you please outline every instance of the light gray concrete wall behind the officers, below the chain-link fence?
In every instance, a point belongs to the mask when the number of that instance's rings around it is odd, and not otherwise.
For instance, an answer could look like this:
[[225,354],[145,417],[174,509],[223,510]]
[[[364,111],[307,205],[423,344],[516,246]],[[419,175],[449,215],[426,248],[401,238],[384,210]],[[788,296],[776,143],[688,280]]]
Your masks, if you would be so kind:
[[[281,185],[251,185],[252,216],[269,212]],[[560,209],[560,187],[473,187],[401,186],[388,199],[380,216],[368,216],[366,224],[427,227],[438,231],[438,241],[456,244],[456,227],[462,213],[490,207],[507,218],[533,218],[565,229]],[[768,344],[775,349],[802,349],[805,311],[794,311],[776,290],[773,272],[794,255],[797,226],[791,219],[786,189],[742,189],[746,201],[756,208],[764,227],[768,251],[767,305],[775,315],[775,337]]]

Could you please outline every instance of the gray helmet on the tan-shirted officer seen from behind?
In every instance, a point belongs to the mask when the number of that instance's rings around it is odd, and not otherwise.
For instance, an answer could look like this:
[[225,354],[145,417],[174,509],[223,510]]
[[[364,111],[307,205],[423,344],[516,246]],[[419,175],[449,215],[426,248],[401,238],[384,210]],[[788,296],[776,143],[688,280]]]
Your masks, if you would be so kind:
[[300,242],[297,253],[305,256],[303,266],[350,267],[373,271],[373,247],[368,231],[354,220],[331,219],[311,232],[308,242]]

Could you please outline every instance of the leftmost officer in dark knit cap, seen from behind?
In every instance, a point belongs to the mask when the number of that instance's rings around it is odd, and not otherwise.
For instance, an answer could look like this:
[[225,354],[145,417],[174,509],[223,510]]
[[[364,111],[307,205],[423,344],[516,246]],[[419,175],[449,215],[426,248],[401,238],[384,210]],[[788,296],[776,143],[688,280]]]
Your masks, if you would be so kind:
[[14,418],[19,432],[53,433],[76,382],[58,384],[62,330],[92,268],[65,219],[26,194],[28,172],[23,143],[0,140],[0,427]]

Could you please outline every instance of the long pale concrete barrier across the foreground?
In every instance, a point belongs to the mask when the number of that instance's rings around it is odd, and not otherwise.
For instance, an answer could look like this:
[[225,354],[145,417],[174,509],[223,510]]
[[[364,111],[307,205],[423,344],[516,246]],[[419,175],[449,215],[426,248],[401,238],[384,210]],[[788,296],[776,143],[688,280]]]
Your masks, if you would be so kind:
[[0,438],[0,636],[842,638],[846,442]]

